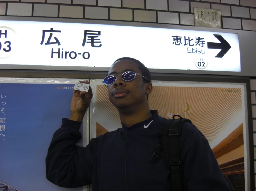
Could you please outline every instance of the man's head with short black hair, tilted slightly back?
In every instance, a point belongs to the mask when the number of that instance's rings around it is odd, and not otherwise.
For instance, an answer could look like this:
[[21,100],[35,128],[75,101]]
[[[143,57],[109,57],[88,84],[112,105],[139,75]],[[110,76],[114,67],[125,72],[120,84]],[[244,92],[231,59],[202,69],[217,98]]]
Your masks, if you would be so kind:
[[[121,75],[127,71],[139,75],[135,75],[135,78],[130,81],[125,81]],[[134,73],[130,74],[133,75]],[[117,78],[114,77],[116,79],[114,83],[108,85],[109,100],[115,107],[138,107],[139,105],[143,107],[144,104],[148,105],[148,95],[153,89],[151,74],[139,60],[129,57],[119,58],[112,64],[108,75],[118,76]]]

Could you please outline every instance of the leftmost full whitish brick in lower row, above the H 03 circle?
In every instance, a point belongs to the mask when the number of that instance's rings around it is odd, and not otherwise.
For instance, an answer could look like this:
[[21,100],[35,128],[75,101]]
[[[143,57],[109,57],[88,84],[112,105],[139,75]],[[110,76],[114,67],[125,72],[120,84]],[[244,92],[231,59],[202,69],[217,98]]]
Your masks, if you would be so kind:
[[8,3],[7,15],[31,16],[32,15],[32,4]]

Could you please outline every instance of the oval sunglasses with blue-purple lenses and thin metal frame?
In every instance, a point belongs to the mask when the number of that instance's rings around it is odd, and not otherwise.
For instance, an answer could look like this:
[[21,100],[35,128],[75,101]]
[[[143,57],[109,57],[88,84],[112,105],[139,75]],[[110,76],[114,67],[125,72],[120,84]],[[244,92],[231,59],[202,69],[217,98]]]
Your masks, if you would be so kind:
[[[121,78],[124,80],[124,81],[131,81],[133,80],[136,76],[142,76],[138,73],[135,73],[135,72],[131,72],[131,71],[128,71],[128,72],[124,72],[122,75],[121,75]],[[104,78],[104,80],[102,81],[104,83],[105,86],[108,86],[109,84],[112,84],[114,83],[117,78],[120,77],[120,76],[114,76],[114,75],[110,75],[110,76],[107,76],[106,78]],[[144,76],[142,76],[144,77]],[[144,77],[146,80],[148,80],[146,77]],[[149,80],[148,80],[149,81]],[[150,82],[150,81],[149,81]]]

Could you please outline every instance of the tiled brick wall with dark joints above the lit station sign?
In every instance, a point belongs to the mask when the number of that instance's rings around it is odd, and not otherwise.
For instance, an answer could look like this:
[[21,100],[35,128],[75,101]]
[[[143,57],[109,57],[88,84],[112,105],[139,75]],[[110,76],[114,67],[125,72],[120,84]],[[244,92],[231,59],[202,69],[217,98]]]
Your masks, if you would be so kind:
[[194,26],[194,7],[220,9],[222,28],[256,31],[256,0],[0,0],[0,15]]

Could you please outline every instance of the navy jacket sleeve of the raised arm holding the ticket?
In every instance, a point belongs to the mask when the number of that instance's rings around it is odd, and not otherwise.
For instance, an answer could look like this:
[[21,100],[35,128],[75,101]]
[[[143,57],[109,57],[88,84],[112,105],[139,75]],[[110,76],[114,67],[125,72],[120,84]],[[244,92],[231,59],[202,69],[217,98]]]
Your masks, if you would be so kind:
[[63,118],[48,149],[46,178],[60,187],[75,188],[92,182],[97,139],[92,139],[87,147],[76,146],[82,138],[80,126],[81,122]]

